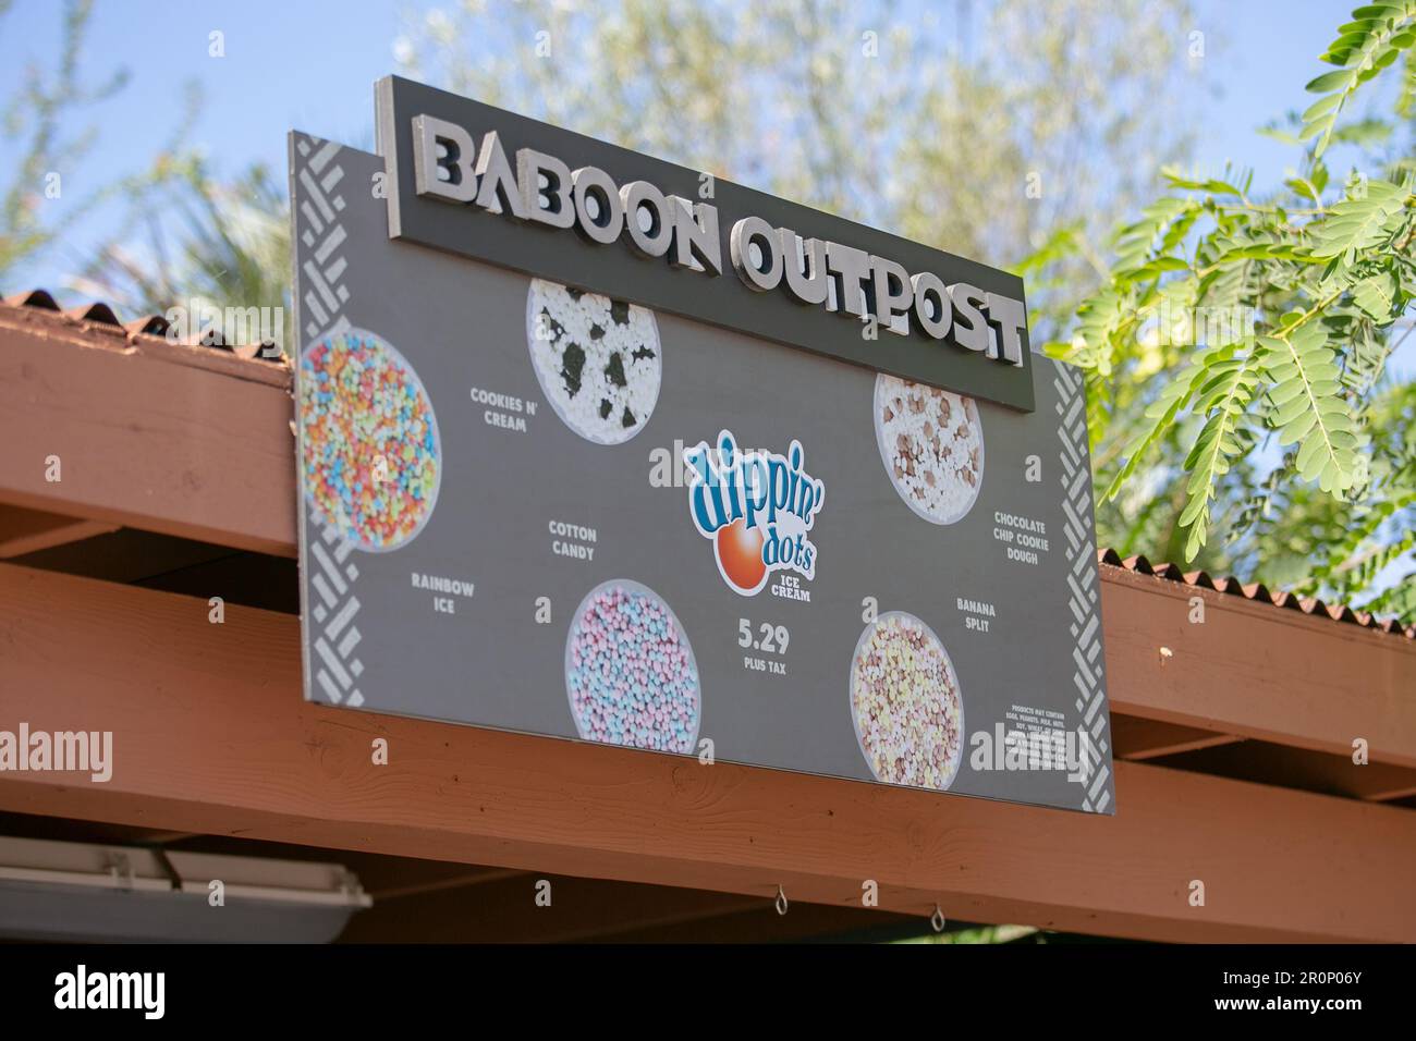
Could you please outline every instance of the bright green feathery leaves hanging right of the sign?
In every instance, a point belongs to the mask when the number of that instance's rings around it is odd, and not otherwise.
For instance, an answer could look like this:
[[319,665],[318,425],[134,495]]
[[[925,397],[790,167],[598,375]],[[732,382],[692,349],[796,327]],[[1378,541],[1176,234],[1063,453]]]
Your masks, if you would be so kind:
[[[1413,45],[1416,0],[1354,11],[1324,55],[1338,68],[1308,84],[1321,96],[1283,187],[1255,197],[1229,170],[1167,170],[1167,193],[1116,232],[1107,285],[1049,344],[1090,371],[1099,510],[1120,511],[1109,523],[1121,538],[1144,533],[1147,552],[1206,567],[1245,538],[1267,581],[1344,596],[1371,596],[1416,545],[1416,389],[1385,375],[1412,331],[1416,160],[1409,130],[1338,122],[1403,52],[1416,84]],[[1413,91],[1396,105],[1416,109]],[[1321,159],[1337,140],[1408,150],[1379,176],[1352,170],[1338,193]],[[1229,538],[1211,540],[1221,523]],[[1416,575],[1408,585],[1369,602],[1416,605]]]

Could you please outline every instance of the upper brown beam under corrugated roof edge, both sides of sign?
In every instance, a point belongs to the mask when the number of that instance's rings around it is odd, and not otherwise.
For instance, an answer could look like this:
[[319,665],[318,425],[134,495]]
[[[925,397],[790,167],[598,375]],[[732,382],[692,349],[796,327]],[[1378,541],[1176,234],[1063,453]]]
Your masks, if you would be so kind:
[[[285,367],[0,309],[0,501],[295,557],[292,422]],[[1416,768],[1416,640],[1112,567],[1102,599],[1116,715]]]

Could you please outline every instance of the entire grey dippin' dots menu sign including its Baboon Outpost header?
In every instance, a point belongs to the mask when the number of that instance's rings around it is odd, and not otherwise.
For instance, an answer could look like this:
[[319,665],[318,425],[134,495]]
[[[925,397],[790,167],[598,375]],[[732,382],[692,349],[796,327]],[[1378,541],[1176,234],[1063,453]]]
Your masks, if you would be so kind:
[[1114,810],[1083,385],[1017,279],[378,103],[384,156],[290,136],[309,698]]

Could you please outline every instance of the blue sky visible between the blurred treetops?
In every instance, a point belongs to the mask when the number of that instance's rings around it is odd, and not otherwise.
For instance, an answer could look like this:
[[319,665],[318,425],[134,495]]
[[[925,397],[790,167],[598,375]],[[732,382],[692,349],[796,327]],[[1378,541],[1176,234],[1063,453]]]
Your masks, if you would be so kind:
[[[224,174],[251,160],[282,171],[290,127],[372,147],[372,82],[396,71],[394,40],[406,20],[433,6],[426,0],[98,0],[84,68],[96,82],[126,65],[132,81],[91,110],[99,127],[88,160],[92,181],[85,184],[82,170],[67,173],[58,204],[82,198],[85,188],[112,176],[142,170],[173,135],[201,146]],[[1255,127],[1301,102],[1303,84],[1320,71],[1317,55],[1351,6],[1352,0],[1199,0],[1194,27],[1205,33],[1205,61],[1187,76],[1184,93],[1158,99],[1155,113],[1198,115],[1191,163],[1218,171],[1235,159],[1256,169],[1257,184],[1277,181],[1291,150],[1255,135]],[[54,62],[59,14],[52,0],[20,0],[0,21],[0,98],[13,96],[31,61]],[[224,58],[208,55],[212,30],[225,34]],[[1177,61],[1184,61],[1182,41]],[[193,126],[180,126],[187,82],[200,85],[204,105]],[[1231,85],[1228,93],[1216,93],[1219,82]],[[118,211],[113,205],[95,214],[65,248],[24,271],[25,282],[59,289],[84,246],[115,225]]]

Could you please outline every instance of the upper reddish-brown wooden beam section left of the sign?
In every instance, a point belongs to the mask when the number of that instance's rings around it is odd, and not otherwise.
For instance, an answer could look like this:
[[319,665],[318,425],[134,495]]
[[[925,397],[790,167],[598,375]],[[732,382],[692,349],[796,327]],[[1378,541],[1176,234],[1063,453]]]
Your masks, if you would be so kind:
[[292,408],[283,365],[0,309],[0,501],[293,557]]

